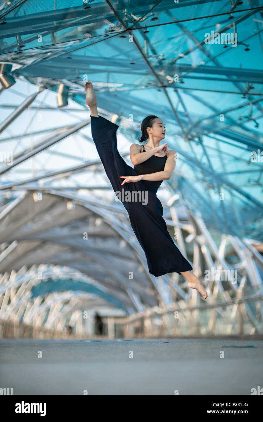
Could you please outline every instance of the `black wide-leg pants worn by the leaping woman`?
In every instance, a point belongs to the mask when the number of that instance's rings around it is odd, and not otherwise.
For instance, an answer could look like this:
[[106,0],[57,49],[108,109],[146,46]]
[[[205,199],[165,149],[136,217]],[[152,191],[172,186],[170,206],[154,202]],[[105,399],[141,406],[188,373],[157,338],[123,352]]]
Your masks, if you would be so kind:
[[[139,173],[119,154],[117,129],[117,124],[104,117],[91,116],[91,135],[99,157],[115,194],[129,214],[134,234],[145,252],[149,273],[158,277],[192,270],[193,267],[169,235],[163,219],[163,207],[156,196],[157,189],[144,180],[121,186],[124,179],[120,176],[138,176]],[[134,192],[141,192],[141,201],[134,200],[139,197],[134,196]],[[133,200],[129,200],[129,195]]]

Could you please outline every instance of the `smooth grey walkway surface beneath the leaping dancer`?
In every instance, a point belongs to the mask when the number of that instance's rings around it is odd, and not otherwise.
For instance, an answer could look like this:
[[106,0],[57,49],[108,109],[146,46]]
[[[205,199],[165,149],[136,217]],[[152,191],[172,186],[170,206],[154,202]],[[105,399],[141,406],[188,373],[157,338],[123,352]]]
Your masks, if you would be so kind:
[[0,388],[13,388],[14,395],[83,394],[84,390],[96,395],[174,395],[176,390],[251,395],[258,385],[263,387],[263,341],[0,341]]

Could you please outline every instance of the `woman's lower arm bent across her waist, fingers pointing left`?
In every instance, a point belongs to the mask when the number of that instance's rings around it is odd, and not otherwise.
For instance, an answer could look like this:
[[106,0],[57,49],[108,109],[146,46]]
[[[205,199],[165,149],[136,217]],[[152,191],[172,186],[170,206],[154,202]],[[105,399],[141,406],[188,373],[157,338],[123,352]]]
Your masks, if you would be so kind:
[[170,149],[168,151],[168,157],[167,157],[163,171],[157,171],[156,173],[149,173],[149,174],[140,174],[139,176],[120,176],[121,178],[124,179],[122,184],[129,183],[129,182],[136,182],[139,180],[156,181],[156,180],[170,179],[175,169],[176,159],[177,159],[177,152],[174,151],[173,149]]

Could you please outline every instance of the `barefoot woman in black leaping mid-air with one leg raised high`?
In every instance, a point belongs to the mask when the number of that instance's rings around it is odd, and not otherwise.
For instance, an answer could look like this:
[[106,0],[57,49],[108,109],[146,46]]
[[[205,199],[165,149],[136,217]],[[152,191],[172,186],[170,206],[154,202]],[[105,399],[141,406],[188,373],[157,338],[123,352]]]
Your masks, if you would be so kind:
[[[117,149],[118,125],[98,115],[97,98],[91,82],[87,81],[85,88],[92,138],[115,194],[118,195],[117,192],[124,188],[121,203],[128,211],[132,229],[145,252],[150,274],[156,277],[167,273],[182,274],[188,280],[188,286],[197,289],[206,299],[204,286],[191,272],[191,264],[169,235],[163,219],[163,207],[156,196],[162,181],[172,176],[176,163],[176,152],[168,150],[167,143],[160,145],[166,131],[164,122],[156,116],[147,116],[142,121],[140,142],[147,143],[144,146],[137,143],[131,145],[132,168]],[[147,201],[128,201],[126,193],[129,197],[129,193],[134,192],[147,194]],[[134,195],[130,196],[134,198]]]

